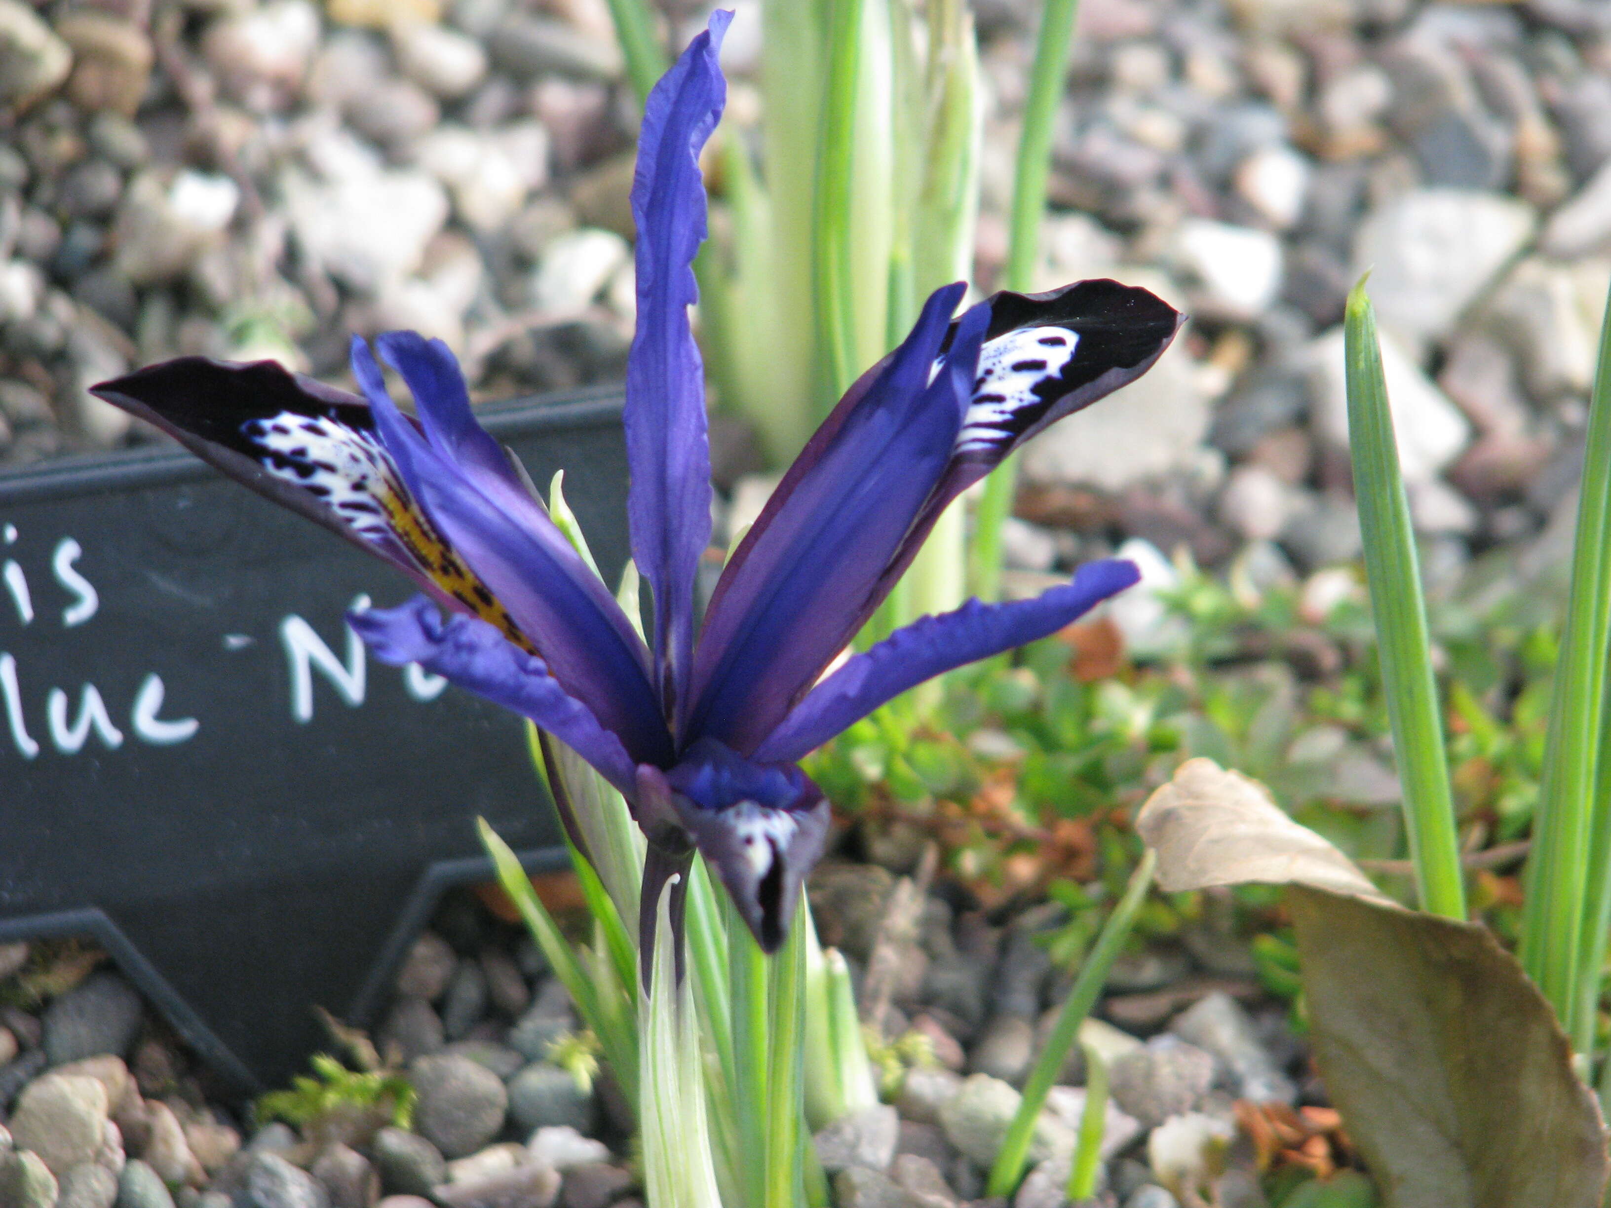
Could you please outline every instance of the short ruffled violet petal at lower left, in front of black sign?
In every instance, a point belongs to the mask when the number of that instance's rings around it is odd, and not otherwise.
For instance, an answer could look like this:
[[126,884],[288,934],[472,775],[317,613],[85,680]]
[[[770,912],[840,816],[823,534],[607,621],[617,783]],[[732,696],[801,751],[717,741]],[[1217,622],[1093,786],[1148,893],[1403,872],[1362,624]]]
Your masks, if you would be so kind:
[[393,667],[417,662],[466,691],[532,718],[617,789],[632,791],[636,770],[620,739],[559,686],[541,659],[512,646],[491,625],[474,617],[445,620],[424,596],[395,609],[353,612],[346,623],[382,662]]

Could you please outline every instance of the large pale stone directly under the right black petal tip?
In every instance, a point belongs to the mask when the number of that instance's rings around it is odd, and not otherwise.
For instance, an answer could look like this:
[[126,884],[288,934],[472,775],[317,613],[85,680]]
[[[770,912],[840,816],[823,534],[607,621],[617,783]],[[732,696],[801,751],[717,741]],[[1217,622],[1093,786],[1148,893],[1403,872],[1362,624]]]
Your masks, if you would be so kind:
[[1208,432],[1208,399],[1179,340],[1100,406],[1054,424],[1025,446],[1031,482],[1120,491],[1189,467]]

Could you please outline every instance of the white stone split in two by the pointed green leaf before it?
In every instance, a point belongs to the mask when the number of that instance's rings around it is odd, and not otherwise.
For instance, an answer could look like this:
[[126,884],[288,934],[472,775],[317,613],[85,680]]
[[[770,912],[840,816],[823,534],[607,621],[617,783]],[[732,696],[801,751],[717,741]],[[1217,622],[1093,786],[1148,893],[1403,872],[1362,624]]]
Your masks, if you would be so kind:
[[[1471,440],[1471,424],[1421,372],[1390,332],[1381,332],[1382,377],[1394,416],[1398,469],[1406,483],[1434,478]],[[1340,327],[1310,345],[1315,433],[1334,448],[1348,446],[1348,390]]]

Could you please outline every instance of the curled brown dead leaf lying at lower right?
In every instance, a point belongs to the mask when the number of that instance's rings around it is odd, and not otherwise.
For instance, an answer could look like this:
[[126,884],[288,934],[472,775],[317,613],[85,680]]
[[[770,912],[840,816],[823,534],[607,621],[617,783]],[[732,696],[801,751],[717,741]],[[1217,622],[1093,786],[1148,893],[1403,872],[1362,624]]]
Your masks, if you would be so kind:
[[1600,1105],[1548,1002],[1485,928],[1390,902],[1205,759],[1136,829],[1165,889],[1289,886],[1315,1061],[1389,1208],[1600,1206]]

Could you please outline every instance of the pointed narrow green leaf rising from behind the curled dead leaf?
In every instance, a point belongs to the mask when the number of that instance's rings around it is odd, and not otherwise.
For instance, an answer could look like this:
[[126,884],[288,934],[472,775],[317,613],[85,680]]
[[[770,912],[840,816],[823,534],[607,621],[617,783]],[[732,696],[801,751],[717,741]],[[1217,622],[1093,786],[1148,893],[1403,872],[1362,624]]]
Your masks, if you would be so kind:
[[[1416,868],[1421,907],[1447,918],[1466,916],[1466,889],[1448,791],[1443,718],[1432,675],[1426,604],[1416,561],[1410,501],[1398,472],[1398,445],[1387,406],[1376,311],[1365,282],[1348,295],[1345,319],[1348,448],[1353,494],[1365,538],[1365,575],[1387,689],[1387,712],[1403,784],[1405,828]],[[1579,892],[1580,900],[1580,892]],[[1582,913],[1572,915],[1574,920]],[[1572,931],[1579,928],[1574,925]]]

